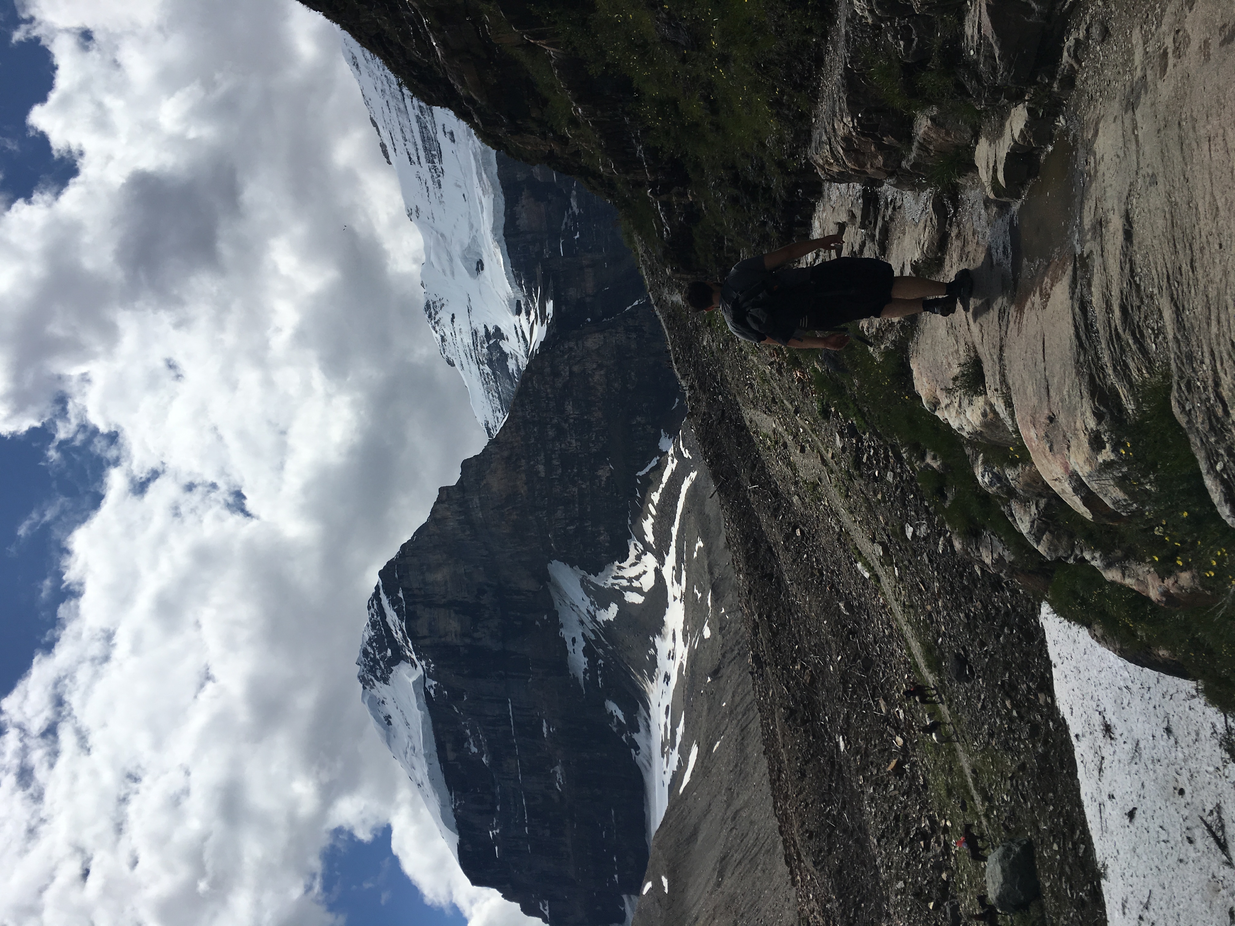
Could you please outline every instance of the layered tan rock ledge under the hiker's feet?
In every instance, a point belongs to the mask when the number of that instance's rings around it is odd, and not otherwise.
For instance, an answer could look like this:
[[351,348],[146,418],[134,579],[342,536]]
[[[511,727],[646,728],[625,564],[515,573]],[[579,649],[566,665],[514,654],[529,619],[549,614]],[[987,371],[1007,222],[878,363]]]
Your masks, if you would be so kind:
[[[1202,156],[1233,117],[1216,88],[1235,77],[1235,56],[1186,38],[1212,32],[1212,16],[1181,7],[1123,36],[1098,16],[1076,23],[1068,59],[1130,72],[1124,89],[1082,80],[1062,125],[1029,104],[992,121],[978,142],[979,183],[955,199],[836,188],[816,215],[818,232],[847,222],[855,253],[884,256],[902,273],[937,259],[941,243],[939,275],[973,268],[972,311],[918,326],[910,363],[923,403],[976,446],[1025,448],[1028,459],[1000,451],[972,462],[1037,553],[1089,563],[1168,606],[1213,600],[1200,574],[1208,559],[1104,548],[1062,526],[1058,511],[1144,525],[1146,477],[1129,459],[1145,436],[1132,433],[1134,420],[1146,384],[1167,375],[1210,500],[1235,525],[1235,337],[1219,295],[1235,289],[1235,258],[1219,241],[1235,184],[1229,161]],[[1210,217],[1184,219],[1199,211]],[[968,382],[974,370],[981,382]],[[998,537],[957,542],[1015,572]]]

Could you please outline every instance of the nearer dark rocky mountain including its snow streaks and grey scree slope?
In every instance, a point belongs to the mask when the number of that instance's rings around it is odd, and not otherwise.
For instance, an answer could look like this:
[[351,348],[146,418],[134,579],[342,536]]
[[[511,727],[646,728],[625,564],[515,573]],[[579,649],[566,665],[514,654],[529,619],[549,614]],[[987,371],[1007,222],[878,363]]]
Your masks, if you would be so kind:
[[[742,736],[748,649],[715,486],[684,412],[646,301],[552,335],[369,603],[379,730],[469,879],[555,926],[629,922],[653,888],[640,922],[792,921],[767,769]],[[700,826],[713,838],[658,869],[673,893],[659,875],[645,889],[650,847]],[[762,852],[764,891],[711,890],[726,846]]]

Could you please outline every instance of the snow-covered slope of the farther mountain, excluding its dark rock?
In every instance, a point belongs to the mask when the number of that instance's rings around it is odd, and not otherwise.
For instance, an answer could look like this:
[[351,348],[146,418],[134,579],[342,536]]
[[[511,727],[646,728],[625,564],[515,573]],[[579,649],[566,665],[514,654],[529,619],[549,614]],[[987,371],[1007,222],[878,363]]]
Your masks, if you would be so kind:
[[382,153],[394,165],[408,217],[424,241],[425,315],[493,437],[545,338],[552,302],[540,315],[536,294],[527,298],[511,274],[493,149],[448,110],[409,94],[380,60],[341,35]]

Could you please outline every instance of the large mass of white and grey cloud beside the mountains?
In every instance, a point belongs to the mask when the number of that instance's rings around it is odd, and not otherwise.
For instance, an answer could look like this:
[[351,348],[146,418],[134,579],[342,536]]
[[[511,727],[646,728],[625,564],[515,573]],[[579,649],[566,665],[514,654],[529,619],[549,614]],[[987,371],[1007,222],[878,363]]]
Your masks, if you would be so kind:
[[25,12],[80,173],[0,216],[0,430],[67,396],[117,462],[2,703],[0,922],[326,921],[331,830],[388,820],[431,899],[521,920],[359,701],[375,570],[483,433],[336,32],[290,0]]

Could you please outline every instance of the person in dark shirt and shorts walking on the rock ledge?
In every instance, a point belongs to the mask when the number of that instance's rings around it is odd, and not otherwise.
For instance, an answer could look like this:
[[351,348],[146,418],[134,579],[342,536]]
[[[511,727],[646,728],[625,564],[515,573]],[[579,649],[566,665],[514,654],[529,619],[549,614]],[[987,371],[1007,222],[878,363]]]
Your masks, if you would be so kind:
[[784,267],[815,251],[840,253],[842,238],[785,244],[734,264],[724,284],[695,280],[683,298],[692,309],[720,309],[730,331],[743,341],[839,351],[848,335],[816,337],[860,319],[904,319],[919,312],[951,315],[957,300],[968,307],[973,274],[961,270],[951,283],[897,277],[892,264],[871,257],[836,257],[814,267]]

